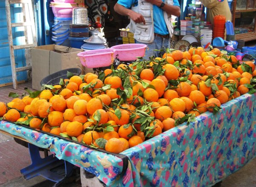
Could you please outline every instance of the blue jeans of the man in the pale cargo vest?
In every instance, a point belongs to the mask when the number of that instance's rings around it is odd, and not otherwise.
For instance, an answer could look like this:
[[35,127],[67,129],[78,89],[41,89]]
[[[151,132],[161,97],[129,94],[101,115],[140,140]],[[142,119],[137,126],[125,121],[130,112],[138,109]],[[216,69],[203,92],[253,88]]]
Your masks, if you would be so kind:
[[143,43],[138,42],[145,45],[148,45],[146,48],[144,59],[148,60],[150,56],[154,57],[161,57],[165,53],[165,51],[153,51],[154,49],[164,49],[164,48],[170,48],[171,40],[170,37],[168,38],[162,38],[160,36],[155,36],[154,41],[152,43]]

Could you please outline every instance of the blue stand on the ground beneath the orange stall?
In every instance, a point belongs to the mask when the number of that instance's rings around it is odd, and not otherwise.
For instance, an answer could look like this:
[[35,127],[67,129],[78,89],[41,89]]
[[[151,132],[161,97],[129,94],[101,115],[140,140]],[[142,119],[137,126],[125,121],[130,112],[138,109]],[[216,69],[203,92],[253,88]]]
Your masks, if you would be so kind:
[[59,160],[53,155],[42,159],[39,154],[39,147],[30,143],[28,145],[32,164],[20,170],[23,178],[29,180],[35,176],[42,176],[56,182],[55,186],[58,186],[66,177],[70,176],[73,164],[70,164],[68,161]]

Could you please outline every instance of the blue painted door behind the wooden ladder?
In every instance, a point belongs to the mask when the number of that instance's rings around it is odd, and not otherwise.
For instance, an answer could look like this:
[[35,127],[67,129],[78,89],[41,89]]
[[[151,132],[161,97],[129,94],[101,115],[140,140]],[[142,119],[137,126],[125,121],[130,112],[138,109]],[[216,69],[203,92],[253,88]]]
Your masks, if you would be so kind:
[[[22,14],[19,4],[11,5],[12,23],[19,23]],[[0,85],[12,82],[12,68],[9,52],[8,32],[6,25],[6,6],[5,0],[0,0]],[[14,45],[24,44],[24,32],[22,27],[12,28],[12,37]],[[26,66],[24,49],[14,51],[16,68]],[[17,81],[26,80],[26,71],[17,72]]]

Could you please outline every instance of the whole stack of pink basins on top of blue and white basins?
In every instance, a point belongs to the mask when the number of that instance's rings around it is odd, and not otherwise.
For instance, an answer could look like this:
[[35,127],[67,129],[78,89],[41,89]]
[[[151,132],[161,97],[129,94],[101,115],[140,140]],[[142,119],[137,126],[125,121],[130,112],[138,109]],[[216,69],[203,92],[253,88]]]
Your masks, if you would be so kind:
[[75,0],[54,0],[50,3],[54,14],[52,41],[56,45],[70,46],[69,25],[72,23],[72,10],[77,7]]

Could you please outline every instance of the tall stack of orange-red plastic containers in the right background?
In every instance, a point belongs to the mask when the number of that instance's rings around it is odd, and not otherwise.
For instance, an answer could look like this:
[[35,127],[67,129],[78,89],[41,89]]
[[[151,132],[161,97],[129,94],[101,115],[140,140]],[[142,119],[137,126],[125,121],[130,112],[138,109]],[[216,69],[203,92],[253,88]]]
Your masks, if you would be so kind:
[[213,35],[212,37],[221,37],[224,39],[225,35],[225,23],[226,23],[226,17],[223,15],[217,15],[213,17]]

